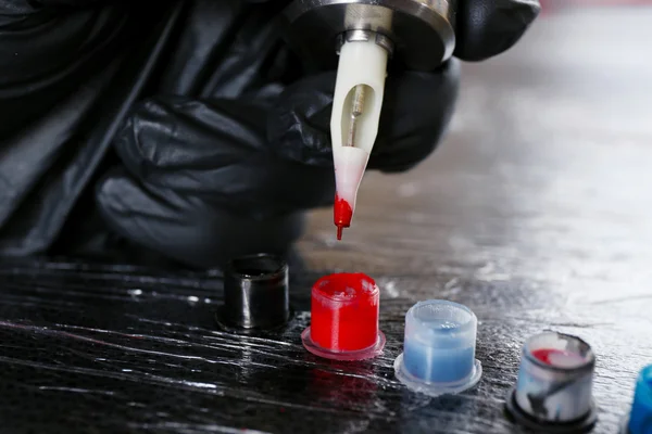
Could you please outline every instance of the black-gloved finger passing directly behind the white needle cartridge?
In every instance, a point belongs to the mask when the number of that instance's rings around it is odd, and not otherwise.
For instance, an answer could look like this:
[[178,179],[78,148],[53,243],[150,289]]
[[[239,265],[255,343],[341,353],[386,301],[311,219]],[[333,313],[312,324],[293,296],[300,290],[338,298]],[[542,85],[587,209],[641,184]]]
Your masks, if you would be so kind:
[[[330,111],[336,73],[288,87],[268,117],[268,140],[279,155],[333,167]],[[389,74],[378,137],[368,167],[406,170],[437,146],[450,122],[459,89],[459,62],[436,73]]]

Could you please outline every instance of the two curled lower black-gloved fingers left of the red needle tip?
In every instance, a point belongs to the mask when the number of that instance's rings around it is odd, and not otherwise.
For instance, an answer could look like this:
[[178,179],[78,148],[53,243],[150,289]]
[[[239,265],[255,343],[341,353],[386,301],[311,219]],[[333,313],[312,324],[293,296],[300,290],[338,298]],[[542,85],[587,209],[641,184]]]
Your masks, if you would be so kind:
[[108,174],[97,202],[120,234],[185,264],[287,251],[302,212],[330,204],[331,168],[269,152],[256,103],[150,100],[118,132],[125,169]]

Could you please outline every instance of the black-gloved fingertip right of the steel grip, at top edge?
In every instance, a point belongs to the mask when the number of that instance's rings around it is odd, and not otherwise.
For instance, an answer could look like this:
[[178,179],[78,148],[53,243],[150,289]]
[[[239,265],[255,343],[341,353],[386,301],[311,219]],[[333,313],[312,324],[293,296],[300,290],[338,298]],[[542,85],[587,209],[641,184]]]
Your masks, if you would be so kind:
[[539,0],[459,0],[455,56],[482,61],[509,50],[540,10]]

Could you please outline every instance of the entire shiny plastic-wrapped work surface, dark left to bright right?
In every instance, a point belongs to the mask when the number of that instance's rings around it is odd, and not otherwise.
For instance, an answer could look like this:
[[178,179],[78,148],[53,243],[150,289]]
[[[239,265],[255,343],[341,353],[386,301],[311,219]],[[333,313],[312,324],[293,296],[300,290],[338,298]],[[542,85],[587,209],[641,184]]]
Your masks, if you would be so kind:
[[[312,216],[279,334],[221,332],[218,272],[64,263],[0,265],[2,432],[519,433],[503,416],[521,347],[547,329],[598,357],[595,433],[615,433],[652,363],[652,10],[541,20],[465,65],[452,129],[400,176],[369,176],[337,243]],[[641,52],[641,50],[643,50]],[[385,354],[318,359],[301,346],[310,285],[364,271],[381,289]],[[479,319],[484,376],[455,397],[406,391],[393,359],[416,301]]]

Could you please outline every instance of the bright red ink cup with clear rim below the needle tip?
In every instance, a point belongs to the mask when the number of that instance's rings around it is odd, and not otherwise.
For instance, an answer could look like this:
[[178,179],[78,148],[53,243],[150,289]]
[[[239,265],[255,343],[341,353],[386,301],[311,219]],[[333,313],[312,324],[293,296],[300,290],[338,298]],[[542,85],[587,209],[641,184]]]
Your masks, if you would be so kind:
[[379,297],[376,282],[363,273],[317,280],[312,288],[311,326],[301,333],[305,349],[335,360],[363,360],[383,353]]

